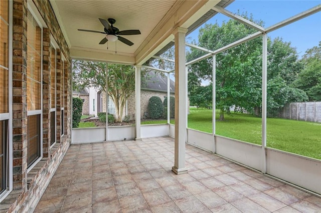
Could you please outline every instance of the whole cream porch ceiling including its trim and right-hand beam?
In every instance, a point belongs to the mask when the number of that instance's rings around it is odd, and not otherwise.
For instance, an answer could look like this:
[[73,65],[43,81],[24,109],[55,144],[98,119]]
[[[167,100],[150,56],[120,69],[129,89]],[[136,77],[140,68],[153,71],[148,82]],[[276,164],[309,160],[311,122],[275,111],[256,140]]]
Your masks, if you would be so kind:
[[[230,1],[50,0],[72,58],[127,64],[142,64],[173,40],[177,27],[194,29],[213,14],[214,5]],[[122,35],[134,43],[128,46],[119,40],[99,44],[104,34],[77,30],[104,31],[98,18],[114,18],[119,30],[139,29],[141,34]]]

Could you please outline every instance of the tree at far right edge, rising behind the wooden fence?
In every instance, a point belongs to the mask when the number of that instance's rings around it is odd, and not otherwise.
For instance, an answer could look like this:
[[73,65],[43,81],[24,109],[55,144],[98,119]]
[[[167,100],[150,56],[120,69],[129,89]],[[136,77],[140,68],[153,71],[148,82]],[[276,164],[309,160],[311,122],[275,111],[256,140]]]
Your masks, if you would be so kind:
[[321,41],[305,51],[301,59],[304,68],[294,81],[294,86],[303,89],[310,101],[321,100]]

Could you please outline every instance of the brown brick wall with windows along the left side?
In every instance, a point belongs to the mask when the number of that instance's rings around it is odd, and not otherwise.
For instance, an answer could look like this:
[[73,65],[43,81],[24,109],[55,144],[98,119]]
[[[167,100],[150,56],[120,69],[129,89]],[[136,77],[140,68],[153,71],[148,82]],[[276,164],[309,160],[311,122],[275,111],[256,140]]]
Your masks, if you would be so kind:
[[[33,0],[47,28],[43,28],[43,159],[34,168],[36,172],[27,173],[27,0],[13,0],[13,187],[14,190],[0,204],[1,212],[32,212],[63,156],[71,138],[71,59],[69,48],[49,0]],[[57,49],[57,141],[53,148],[50,144],[50,37],[55,38]],[[62,54],[66,57],[65,73],[61,72]],[[61,130],[61,80],[65,81],[64,121],[65,135]],[[41,91],[38,91],[41,92]],[[35,170],[35,169],[33,169]]]

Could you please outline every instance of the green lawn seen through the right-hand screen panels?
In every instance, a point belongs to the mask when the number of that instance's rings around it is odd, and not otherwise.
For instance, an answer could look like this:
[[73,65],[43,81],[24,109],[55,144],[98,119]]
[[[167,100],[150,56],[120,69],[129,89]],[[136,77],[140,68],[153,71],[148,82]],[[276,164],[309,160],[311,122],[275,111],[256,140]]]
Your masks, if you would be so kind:
[[[225,121],[216,117],[216,134],[261,144],[260,117],[231,113]],[[267,146],[321,159],[321,123],[267,118]],[[212,133],[212,110],[191,109],[188,127]]]

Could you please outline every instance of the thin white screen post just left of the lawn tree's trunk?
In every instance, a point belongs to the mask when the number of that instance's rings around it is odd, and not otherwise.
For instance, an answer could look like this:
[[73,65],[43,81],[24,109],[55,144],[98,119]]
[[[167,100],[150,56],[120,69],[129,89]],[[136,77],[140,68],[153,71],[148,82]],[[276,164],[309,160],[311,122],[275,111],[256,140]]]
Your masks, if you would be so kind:
[[216,55],[213,55],[212,60],[212,134],[213,134],[213,152],[216,153],[216,141],[215,141],[215,133],[216,133]]

